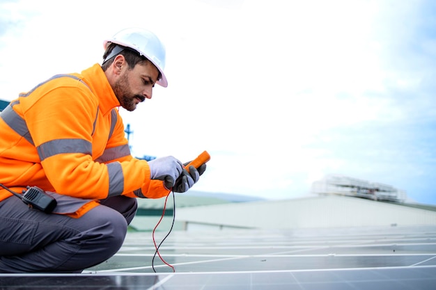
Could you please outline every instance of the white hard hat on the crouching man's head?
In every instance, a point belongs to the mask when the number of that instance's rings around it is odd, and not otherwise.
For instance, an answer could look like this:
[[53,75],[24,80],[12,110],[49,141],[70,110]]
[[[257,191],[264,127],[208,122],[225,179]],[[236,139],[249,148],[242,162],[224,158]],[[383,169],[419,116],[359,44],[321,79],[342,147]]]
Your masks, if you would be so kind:
[[157,83],[164,88],[168,86],[168,81],[166,81],[164,74],[165,47],[154,33],[139,28],[123,29],[116,33],[111,39],[104,40],[104,49],[107,49],[110,43],[130,47],[138,51],[141,56],[145,56],[157,67],[157,70],[159,70],[162,75],[162,77],[157,80]]

